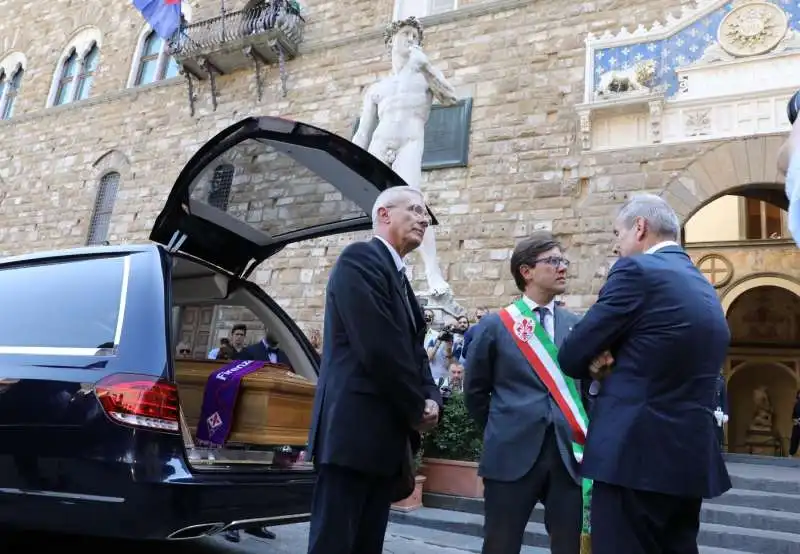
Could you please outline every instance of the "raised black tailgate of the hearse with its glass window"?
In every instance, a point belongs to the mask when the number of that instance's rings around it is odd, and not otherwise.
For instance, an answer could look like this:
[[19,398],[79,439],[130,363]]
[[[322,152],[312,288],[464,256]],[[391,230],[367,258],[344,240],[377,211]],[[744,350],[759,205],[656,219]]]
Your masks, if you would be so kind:
[[369,229],[378,194],[405,184],[336,134],[249,117],[192,156],[150,239],[247,277],[291,242]]

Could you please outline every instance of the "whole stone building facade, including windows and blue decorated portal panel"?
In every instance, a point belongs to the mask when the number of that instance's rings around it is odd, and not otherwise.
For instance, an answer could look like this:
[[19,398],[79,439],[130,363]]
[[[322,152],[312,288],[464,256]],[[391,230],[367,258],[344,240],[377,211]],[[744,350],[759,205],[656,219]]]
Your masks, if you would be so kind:
[[[211,25],[220,10],[212,0],[184,4],[190,25]],[[468,308],[505,304],[517,292],[508,273],[514,242],[546,228],[573,262],[565,301],[584,309],[604,282],[613,215],[630,194],[664,195],[684,222],[728,194],[785,202],[775,192],[782,186],[775,159],[800,69],[800,13],[785,0],[751,4],[306,0],[303,41],[285,60],[285,95],[281,64],[268,63],[263,86],[244,68],[216,75],[213,86],[195,80],[190,102],[186,80],[166,47],[149,42],[130,3],[56,0],[33,9],[9,0],[0,75],[19,86],[0,96],[0,252],[145,240],[183,164],[249,115],[349,137],[365,87],[389,70],[384,26],[416,14],[426,52],[458,95],[472,99],[467,166],[427,171],[424,183],[457,300]],[[69,89],[64,67],[72,61]],[[4,110],[9,98],[13,110]],[[301,325],[318,326],[327,273],[352,238],[294,245],[253,278]],[[743,294],[741,283],[767,278],[777,281],[764,286],[800,292],[793,247],[768,238],[700,239],[689,250],[698,262],[722,252],[735,266],[719,287],[724,302],[731,291]],[[782,352],[781,371],[797,388],[800,352]]]

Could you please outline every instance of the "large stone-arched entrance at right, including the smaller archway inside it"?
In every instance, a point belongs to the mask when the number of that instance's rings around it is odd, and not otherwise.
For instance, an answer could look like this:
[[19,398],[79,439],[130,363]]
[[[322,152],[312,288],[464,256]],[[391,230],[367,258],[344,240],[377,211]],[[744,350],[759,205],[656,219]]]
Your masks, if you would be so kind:
[[[773,155],[779,146],[777,137],[722,144],[664,193],[684,216],[684,247],[717,289],[731,329],[722,368],[730,452],[783,455],[791,434],[800,376],[800,250],[787,238],[787,200]],[[768,404],[760,413],[755,396]]]

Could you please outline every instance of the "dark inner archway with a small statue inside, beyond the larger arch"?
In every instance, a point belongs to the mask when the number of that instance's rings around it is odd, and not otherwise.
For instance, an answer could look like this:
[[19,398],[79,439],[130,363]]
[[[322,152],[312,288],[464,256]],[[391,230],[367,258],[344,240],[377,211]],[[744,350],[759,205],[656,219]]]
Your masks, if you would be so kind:
[[[773,284],[759,284],[764,282]],[[800,382],[800,285],[789,283],[794,291],[775,277],[753,278],[723,296],[731,330],[725,368],[730,452],[785,455],[788,450]]]

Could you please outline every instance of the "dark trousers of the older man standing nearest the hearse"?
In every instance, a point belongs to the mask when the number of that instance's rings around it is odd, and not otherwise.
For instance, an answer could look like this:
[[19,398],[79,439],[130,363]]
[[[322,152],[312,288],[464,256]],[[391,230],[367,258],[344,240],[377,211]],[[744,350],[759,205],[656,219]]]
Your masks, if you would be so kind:
[[311,502],[308,554],[381,554],[392,479],[323,464]]

